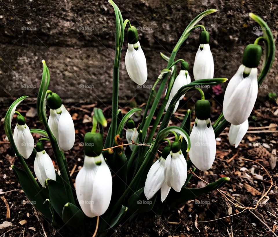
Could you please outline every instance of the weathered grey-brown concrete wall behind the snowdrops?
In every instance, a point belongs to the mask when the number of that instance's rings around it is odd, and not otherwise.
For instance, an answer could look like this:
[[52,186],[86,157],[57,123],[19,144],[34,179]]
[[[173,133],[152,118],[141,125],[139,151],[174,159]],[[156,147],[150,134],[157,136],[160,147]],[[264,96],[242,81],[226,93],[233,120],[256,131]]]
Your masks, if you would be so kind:
[[[210,32],[215,77],[231,78],[241,63],[244,45],[253,43],[260,31],[248,17],[261,16],[277,38],[277,1],[140,0],[115,1],[124,19],[139,27],[151,85],[166,63],[159,52],[170,54],[186,25],[200,12],[216,8],[200,23]],[[67,101],[111,103],[114,61],[114,11],[107,1],[3,0],[0,8],[0,100],[11,96],[35,97],[45,59],[50,68],[50,89]],[[193,62],[200,30],[195,30],[178,53]],[[148,89],[138,88],[127,75],[124,57],[120,66],[120,101],[136,96],[144,101]],[[277,59],[260,93],[277,92]],[[94,87],[94,88],[92,88]]]

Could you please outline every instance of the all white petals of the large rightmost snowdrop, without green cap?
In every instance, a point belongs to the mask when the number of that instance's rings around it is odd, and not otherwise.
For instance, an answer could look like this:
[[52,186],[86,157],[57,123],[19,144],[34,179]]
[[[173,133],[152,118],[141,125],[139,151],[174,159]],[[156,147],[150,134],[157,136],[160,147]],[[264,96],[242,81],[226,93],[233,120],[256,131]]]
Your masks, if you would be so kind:
[[[250,71],[243,78],[243,72]],[[240,65],[230,80],[224,95],[223,115],[233,125],[244,123],[250,116],[258,94],[257,68]]]

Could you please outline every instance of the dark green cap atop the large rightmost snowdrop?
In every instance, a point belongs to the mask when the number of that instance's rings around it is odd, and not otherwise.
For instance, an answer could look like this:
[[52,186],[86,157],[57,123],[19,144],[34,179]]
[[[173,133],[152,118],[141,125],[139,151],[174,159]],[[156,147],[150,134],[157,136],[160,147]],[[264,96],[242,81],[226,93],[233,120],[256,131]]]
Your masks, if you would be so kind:
[[257,44],[248,44],[244,49],[242,64],[248,68],[257,68],[261,60],[261,46]]

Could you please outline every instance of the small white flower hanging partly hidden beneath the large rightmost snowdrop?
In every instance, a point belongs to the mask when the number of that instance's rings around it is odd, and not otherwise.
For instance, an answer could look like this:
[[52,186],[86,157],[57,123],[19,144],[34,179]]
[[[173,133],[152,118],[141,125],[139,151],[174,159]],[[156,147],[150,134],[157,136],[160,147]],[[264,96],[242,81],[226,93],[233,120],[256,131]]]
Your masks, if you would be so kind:
[[229,142],[231,145],[235,145],[237,147],[241,142],[242,138],[246,134],[248,130],[248,119],[244,121],[242,124],[233,125],[231,124],[230,131],[229,131]]

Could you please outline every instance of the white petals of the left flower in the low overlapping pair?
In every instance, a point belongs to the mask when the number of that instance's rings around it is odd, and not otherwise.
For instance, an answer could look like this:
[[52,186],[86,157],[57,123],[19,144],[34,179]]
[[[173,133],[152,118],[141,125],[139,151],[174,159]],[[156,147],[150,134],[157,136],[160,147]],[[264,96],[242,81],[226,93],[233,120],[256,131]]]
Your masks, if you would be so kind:
[[165,159],[160,157],[149,170],[144,187],[147,200],[151,199],[160,189],[161,201],[163,202],[170,192],[171,187],[167,185],[164,177],[164,164]]

